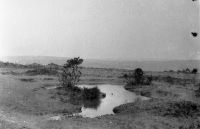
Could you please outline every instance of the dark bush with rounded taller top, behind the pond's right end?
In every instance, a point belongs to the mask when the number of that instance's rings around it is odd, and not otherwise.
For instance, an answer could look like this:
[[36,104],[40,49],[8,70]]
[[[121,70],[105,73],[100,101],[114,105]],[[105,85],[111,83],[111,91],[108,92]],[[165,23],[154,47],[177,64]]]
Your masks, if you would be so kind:
[[124,74],[126,85],[150,85],[152,82],[152,76],[144,76],[144,72],[141,68],[136,68],[134,72]]

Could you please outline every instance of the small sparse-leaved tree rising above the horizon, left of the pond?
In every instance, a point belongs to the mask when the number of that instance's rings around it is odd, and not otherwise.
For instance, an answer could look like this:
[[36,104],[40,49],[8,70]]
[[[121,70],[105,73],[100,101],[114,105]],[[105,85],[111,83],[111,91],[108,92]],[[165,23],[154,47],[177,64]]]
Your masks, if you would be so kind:
[[83,59],[76,57],[67,60],[64,64],[59,81],[63,87],[72,88],[80,80],[81,71],[79,65],[83,63]]

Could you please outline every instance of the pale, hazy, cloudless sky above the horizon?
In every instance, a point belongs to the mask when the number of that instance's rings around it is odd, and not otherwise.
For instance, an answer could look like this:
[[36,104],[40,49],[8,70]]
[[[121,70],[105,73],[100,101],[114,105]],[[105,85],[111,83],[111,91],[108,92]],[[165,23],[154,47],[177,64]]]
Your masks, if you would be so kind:
[[192,0],[0,0],[0,57],[200,59]]

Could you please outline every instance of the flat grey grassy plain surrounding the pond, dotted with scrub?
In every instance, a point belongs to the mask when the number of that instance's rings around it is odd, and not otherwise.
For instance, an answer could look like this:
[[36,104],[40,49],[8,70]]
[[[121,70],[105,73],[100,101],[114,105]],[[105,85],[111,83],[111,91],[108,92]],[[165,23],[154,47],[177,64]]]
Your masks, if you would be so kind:
[[[28,74],[30,68],[0,69],[0,128],[7,129],[199,129],[199,74],[145,72],[153,76],[149,86],[125,88],[150,100],[137,100],[114,108],[115,115],[96,118],[71,116],[81,104],[62,96],[58,75]],[[82,68],[79,84],[124,85],[123,69]],[[60,93],[60,94],[58,94]],[[64,101],[63,101],[64,99]],[[65,118],[56,120],[56,116]]]

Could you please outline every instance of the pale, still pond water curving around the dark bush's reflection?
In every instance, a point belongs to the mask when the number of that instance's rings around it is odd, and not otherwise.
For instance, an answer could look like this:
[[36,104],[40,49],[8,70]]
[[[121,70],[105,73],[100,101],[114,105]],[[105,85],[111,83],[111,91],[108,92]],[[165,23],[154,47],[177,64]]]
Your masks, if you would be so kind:
[[106,97],[96,100],[92,102],[92,104],[84,104],[81,113],[79,113],[82,117],[94,118],[101,115],[114,114],[113,108],[116,106],[134,102],[138,98],[141,100],[148,99],[147,97],[138,96],[133,92],[127,91],[120,85],[79,85],[81,88],[92,88],[95,86],[97,86],[101,92],[105,93]]

